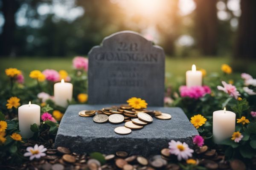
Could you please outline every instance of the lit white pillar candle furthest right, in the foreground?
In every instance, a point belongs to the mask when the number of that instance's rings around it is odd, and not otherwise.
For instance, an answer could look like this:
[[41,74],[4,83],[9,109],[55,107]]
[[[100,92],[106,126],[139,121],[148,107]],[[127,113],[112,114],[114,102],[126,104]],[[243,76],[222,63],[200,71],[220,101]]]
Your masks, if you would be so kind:
[[236,113],[231,111],[215,111],[212,115],[212,134],[215,143],[232,136],[236,127]]

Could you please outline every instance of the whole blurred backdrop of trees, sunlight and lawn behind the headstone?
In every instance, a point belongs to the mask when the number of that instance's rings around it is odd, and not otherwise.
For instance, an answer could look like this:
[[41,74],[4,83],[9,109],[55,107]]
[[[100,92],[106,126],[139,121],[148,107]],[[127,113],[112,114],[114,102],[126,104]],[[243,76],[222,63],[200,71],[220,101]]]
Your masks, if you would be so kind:
[[256,77],[255,9],[256,0],[0,0],[0,71],[70,71],[74,56],[132,30],[164,48],[169,82],[192,64]]

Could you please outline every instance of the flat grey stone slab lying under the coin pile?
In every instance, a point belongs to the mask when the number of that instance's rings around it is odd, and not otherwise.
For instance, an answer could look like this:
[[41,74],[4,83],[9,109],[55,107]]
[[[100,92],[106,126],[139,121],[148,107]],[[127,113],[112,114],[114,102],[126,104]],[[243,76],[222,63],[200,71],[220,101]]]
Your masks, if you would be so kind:
[[153,155],[168,147],[171,139],[187,142],[192,145],[192,136],[198,131],[189,122],[180,108],[149,107],[150,110],[159,110],[170,113],[172,119],[153,122],[141,130],[132,130],[131,134],[119,135],[114,128],[124,126],[124,123],[98,124],[92,117],[80,117],[81,110],[99,110],[110,105],[70,105],[67,108],[55,139],[55,147],[64,146],[76,153],[101,152],[105,154],[124,150],[130,154]]

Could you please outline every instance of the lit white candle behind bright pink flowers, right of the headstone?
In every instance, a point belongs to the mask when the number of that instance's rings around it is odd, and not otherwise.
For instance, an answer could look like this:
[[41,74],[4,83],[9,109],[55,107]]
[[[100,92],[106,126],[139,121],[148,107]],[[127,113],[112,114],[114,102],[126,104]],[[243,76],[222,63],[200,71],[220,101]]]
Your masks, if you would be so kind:
[[186,86],[201,86],[202,85],[202,72],[196,71],[195,65],[192,65],[192,70],[186,71]]

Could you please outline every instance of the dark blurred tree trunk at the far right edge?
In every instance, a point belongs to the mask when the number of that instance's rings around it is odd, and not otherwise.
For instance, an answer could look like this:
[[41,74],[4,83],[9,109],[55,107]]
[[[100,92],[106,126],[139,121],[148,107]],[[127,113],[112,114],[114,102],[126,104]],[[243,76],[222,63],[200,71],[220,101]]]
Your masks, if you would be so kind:
[[236,58],[256,59],[256,0],[241,0]]

